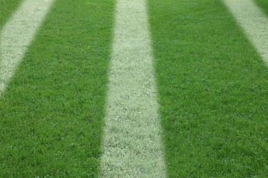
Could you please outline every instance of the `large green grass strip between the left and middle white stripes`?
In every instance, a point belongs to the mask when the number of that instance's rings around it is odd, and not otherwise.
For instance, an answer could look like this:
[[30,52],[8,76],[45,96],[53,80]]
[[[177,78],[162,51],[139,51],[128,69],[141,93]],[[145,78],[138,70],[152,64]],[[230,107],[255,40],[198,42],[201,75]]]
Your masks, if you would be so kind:
[[113,6],[52,6],[0,99],[0,177],[98,175]]

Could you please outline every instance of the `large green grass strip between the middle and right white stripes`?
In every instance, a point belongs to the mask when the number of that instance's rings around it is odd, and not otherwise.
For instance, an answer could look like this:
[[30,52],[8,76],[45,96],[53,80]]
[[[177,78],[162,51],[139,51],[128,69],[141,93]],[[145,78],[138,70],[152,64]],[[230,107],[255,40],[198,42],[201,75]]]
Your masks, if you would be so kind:
[[268,68],[219,0],[149,0],[168,177],[268,177]]

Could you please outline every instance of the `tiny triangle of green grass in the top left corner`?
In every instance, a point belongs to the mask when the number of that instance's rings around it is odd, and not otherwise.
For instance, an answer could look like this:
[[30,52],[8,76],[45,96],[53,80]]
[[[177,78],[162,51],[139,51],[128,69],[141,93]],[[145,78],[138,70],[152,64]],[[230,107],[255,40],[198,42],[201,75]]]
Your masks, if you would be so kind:
[[22,0],[0,0],[0,30]]

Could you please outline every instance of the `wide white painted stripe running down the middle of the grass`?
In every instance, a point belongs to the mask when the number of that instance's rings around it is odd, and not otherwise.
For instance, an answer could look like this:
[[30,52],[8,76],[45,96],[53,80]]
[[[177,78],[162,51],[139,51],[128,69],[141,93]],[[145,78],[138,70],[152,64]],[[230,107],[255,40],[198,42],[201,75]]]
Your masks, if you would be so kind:
[[101,177],[165,177],[145,0],[118,0]]

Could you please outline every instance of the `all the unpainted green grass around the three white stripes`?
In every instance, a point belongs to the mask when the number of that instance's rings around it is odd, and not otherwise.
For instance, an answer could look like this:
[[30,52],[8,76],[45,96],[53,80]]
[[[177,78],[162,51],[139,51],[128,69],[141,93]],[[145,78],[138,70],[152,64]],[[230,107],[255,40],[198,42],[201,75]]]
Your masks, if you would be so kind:
[[[115,3],[55,0],[0,99],[0,177],[100,176]],[[268,177],[268,68],[242,27],[220,0],[147,5],[166,176]]]

